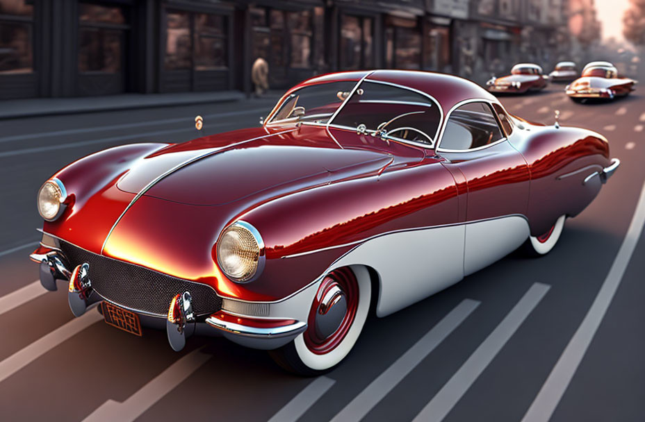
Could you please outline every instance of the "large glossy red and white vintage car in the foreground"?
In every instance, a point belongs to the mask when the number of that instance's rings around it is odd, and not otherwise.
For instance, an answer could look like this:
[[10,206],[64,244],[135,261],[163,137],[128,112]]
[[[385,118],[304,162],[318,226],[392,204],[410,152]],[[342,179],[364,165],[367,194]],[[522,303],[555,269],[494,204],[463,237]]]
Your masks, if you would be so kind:
[[58,171],[38,192],[31,259],[45,288],[67,280],[76,316],[97,304],[136,335],[165,328],[174,350],[224,335],[315,375],[369,312],[516,248],[551,251],[618,166],[602,135],[512,117],[462,78],[328,74],[288,90],[261,127]]

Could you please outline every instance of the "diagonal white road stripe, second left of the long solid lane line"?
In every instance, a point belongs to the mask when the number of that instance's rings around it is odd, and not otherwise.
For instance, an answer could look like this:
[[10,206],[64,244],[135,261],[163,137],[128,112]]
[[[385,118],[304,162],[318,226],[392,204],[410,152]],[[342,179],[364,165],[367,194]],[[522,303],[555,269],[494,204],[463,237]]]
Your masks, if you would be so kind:
[[403,378],[405,378],[422,360],[427,357],[441,342],[450,335],[480,305],[472,299],[464,299],[455,309],[443,317],[414,346],[390,365],[381,375],[370,382],[361,394],[356,396],[341,410],[332,421],[359,421]]

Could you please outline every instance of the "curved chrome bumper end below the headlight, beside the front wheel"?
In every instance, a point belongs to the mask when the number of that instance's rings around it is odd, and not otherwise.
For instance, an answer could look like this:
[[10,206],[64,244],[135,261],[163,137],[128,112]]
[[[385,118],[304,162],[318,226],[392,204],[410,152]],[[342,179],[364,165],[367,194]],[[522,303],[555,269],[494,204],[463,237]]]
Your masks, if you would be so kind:
[[243,326],[209,316],[209,318],[206,318],[206,323],[221,330],[224,337],[237,344],[263,350],[272,350],[284,346],[302,334],[304,330],[307,330],[307,323],[302,321],[295,321],[295,323],[288,326],[260,328]]

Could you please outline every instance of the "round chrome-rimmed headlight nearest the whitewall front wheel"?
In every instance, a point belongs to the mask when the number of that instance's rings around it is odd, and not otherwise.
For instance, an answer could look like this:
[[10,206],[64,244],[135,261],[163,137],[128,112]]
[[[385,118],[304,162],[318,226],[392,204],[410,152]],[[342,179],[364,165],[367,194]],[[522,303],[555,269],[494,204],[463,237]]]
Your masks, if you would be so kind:
[[264,267],[264,242],[256,228],[237,221],[224,229],[217,246],[220,269],[236,282],[248,282]]

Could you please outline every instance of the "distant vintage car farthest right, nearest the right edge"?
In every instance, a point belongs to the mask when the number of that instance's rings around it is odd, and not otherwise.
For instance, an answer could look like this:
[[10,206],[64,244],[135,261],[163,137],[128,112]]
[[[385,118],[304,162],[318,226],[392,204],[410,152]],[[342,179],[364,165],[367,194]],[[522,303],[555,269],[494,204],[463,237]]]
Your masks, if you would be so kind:
[[637,81],[621,78],[610,62],[591,62],[582,69],[582,76],[567,85],[564,91],[575,102],[587,99],[614,99],[627,96],[636,89]]

